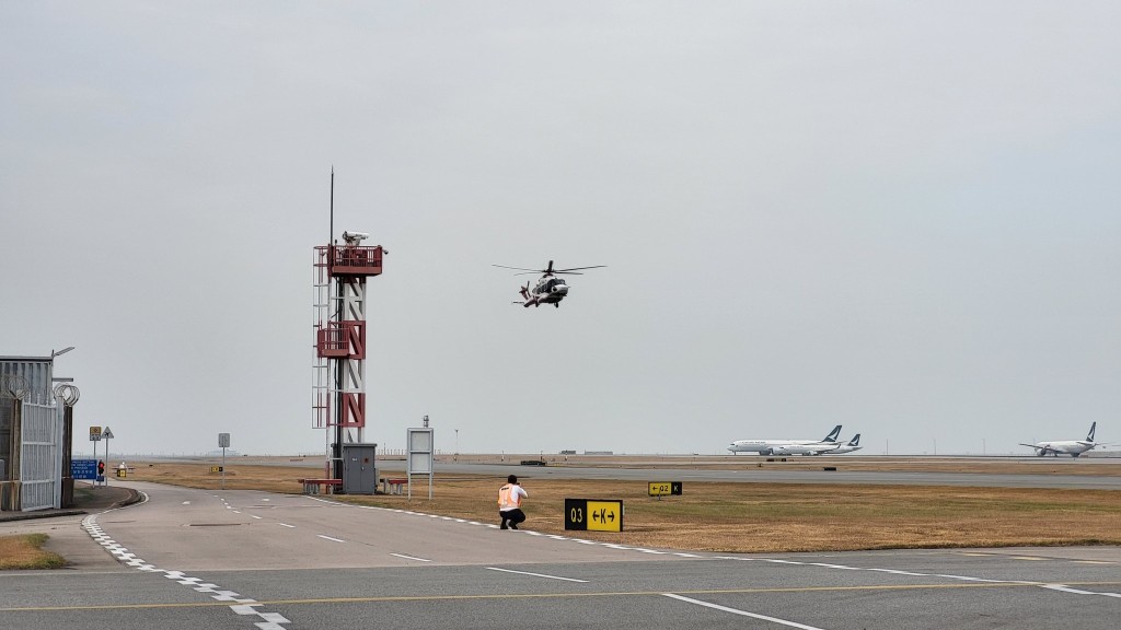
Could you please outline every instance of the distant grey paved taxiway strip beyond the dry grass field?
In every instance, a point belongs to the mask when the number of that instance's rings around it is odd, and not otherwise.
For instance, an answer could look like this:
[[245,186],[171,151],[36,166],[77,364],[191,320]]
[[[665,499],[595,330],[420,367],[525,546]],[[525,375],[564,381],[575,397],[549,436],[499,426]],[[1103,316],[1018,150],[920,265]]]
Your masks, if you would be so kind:
[[[404,462],[385,461],[381,471],[404,471]],[[843,463],[824,461],[822,467]],[[680,466],[643,469],[593,466],[519,466],[515,464],[437,463],[436,473],[444,475],[474,474],[504,479],[513,473],[524,479],[612,479],[630,481],[733,481],[740,483],[836,483],[873,485],[969,485],[978,488],[1059,488],[1071,490],[1121,490],[1121,476],[1074,474],[1003,474],[953,472],[870,472],[870,471],[796,471],[775,469],[691,470]]]

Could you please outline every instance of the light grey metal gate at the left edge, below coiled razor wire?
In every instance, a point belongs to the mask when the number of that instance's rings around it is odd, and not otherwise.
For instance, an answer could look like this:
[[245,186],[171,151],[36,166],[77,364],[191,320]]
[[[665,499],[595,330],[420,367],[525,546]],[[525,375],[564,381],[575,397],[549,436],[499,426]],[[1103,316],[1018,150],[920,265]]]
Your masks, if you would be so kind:
[[24,511],[57,508],[62,498],[62,416],[55,405],[22,404],[20,507]]

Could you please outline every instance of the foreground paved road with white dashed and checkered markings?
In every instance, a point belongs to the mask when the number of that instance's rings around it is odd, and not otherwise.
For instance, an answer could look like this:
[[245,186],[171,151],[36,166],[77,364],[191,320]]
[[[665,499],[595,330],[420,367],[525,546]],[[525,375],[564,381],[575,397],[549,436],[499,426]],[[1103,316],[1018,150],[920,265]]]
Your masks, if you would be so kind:
[[135,485],[147,503],[85,519],[115,567],[0,573],[4,629],[1112,630],[1121,615],[1114,547],[723,556]]

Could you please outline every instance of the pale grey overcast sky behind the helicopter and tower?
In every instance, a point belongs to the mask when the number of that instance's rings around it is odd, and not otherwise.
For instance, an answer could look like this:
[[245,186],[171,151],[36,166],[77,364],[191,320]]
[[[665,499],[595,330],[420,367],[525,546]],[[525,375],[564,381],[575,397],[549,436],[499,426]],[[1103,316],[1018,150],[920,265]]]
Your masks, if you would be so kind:
[[[313,248],[370,232],[367,439],[1121,442],[1117,2],[0,0],[0,355],[77,451],[322,453]],[[606,265],[560,308],[491,265]],[[456,437],[457,429],[457,437]],[[456,443],[457,441],[457,443]]]

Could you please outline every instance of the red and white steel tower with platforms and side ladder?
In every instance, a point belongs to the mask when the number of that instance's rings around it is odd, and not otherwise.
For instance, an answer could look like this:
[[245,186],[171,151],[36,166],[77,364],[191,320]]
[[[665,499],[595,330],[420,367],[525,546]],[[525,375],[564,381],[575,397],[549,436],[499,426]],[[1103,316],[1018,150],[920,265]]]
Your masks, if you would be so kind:
[[[327,429],[326,474],[342,479],[343,444],[365,442],[365,279],[381,275],[381,245],[343,232],[315,248],[315,365],[312,426]],[[333,441],[332,441],[333,438]]]

